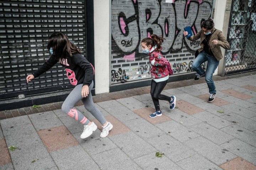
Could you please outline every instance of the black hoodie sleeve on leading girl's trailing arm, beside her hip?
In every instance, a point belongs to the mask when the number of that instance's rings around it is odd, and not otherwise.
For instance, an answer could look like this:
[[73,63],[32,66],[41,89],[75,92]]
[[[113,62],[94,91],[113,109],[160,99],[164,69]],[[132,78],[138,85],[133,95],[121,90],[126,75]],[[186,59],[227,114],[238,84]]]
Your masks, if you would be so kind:
[[84,70],[85,77],[83,85],[89,86],[94,78],[94,68],[92,67],[91,63],[80,54],[74,55],[74,62]]

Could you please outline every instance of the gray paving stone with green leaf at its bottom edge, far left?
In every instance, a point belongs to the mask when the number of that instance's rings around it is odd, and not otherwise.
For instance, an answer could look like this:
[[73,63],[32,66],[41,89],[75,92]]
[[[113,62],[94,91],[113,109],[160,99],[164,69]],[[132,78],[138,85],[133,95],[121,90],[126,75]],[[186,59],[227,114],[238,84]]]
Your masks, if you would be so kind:
[[41,138],[34,129],[32,123],[18,126],[2,127],[7,147],[14,145],[18,148],[31,143],[41,142]]

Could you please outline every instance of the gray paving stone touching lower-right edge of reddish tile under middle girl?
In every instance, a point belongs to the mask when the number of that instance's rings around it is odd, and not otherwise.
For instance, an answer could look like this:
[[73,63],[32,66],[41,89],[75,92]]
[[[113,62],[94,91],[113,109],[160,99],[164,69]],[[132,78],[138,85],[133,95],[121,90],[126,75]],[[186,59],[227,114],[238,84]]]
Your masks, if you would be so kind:
[[181,123],[177,123],[176,121],[166,121],[164,123],[159,123],[156,126],[180,142],[184,142],[199,136],[195,132],[186,128]]

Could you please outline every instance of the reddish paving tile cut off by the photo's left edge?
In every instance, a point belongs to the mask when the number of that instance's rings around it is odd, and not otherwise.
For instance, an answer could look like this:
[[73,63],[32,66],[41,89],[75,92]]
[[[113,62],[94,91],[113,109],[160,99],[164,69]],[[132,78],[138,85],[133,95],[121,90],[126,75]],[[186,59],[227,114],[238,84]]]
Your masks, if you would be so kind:
[[[0,166],[12,163],[5,139],[0,139]],[[1,168],[1,167],[0,167]]]

